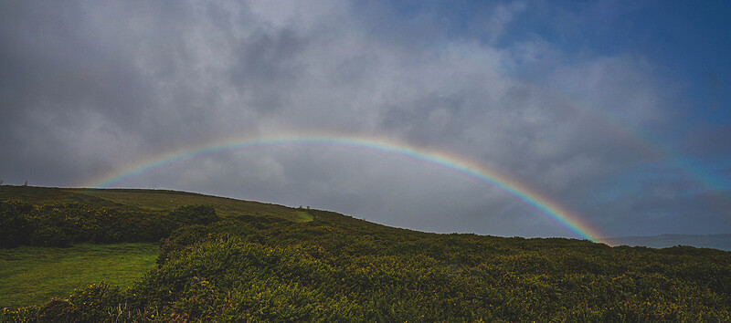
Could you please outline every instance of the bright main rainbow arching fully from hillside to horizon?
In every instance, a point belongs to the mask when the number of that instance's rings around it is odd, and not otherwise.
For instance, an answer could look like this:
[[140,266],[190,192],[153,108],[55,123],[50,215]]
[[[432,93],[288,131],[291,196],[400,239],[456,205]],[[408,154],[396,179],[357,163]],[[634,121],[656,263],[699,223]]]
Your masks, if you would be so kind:
[[201,155],[218,151],[248,149],[272,145],[327,145],[367,151],[377,151],[406,157],[417,162],[427,162],[457,172],[467,177],[488,184],[509,194],[521,203],[527,204],[546,215],[548,218],[567,228],[577,237],[600,242],[603,236],[588,224],[581,221],[578,214],[538,193],[534,189],[518,182],[513,178],[486,167],[478,162],[472,162],[456,154],[443,151],[433,151],[400,141],[381,139],[376,137],[358,137],[334,134],[279,134],[263,137],[243,137],[236,140],[205,143],[183,150],[170,151],[154,156],[143,162],[137,162],[124,170],[107,174],[84,184],[84,187],[110,188],[115,184],[139,176],[145,172],[174,162],[181,162]]

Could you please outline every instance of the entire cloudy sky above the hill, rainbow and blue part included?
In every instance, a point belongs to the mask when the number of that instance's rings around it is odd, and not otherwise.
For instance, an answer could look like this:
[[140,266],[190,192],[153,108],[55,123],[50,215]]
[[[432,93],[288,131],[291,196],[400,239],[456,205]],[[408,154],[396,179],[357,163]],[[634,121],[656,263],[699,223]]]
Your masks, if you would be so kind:
[[570,214],[595,236],[728,234],[728,16],[727,1],[2,1],[0,180],[437,233],[581,237]]

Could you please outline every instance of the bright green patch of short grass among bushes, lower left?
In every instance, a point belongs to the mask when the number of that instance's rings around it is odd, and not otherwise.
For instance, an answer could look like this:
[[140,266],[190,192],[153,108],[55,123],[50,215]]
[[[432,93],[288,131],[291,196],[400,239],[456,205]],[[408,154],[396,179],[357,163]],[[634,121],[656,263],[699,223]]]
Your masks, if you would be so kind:
[[40,305],[106,281],[130,287],[155,266],[158,244],[80,244],[0,249],[0,307]]

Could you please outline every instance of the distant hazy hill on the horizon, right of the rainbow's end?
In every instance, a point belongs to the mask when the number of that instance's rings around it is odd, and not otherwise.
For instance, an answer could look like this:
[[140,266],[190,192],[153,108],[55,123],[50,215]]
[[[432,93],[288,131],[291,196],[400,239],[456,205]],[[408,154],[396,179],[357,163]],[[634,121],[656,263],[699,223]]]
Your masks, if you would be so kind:
[[690,245],[697,248],[714,248],[731,251],[731,234],[660,234],[650,236],[621,236],[603,239],[609,245],[649,246],[667,248]]

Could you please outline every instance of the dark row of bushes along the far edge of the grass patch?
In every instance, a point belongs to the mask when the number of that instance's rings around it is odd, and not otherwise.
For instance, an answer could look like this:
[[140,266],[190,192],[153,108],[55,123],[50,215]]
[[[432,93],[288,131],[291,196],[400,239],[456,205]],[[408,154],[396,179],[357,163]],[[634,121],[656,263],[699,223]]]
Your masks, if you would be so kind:
[[72,243],[154,242],[186,224],[218,220],[207,205],[185,205],[169,213],[108,210],[81,203],[32,205],[0,202],[0,247]]

